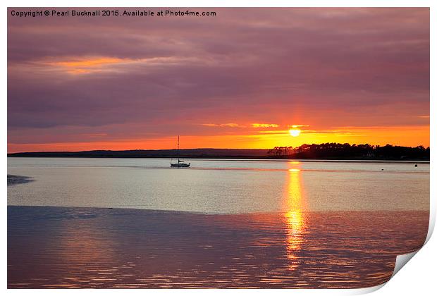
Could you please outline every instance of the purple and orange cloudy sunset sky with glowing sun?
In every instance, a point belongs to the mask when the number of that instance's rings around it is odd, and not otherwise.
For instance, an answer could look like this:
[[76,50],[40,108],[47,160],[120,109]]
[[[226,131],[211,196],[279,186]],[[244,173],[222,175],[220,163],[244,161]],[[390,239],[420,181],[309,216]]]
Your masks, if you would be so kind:
[[429,8],[12,10],[10,153],[429,146]]

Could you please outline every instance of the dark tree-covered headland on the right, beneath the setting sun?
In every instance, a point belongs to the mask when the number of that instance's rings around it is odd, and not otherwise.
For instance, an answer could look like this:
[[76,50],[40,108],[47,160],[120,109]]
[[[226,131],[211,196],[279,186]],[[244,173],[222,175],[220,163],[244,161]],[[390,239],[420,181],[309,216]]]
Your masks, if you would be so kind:
[[275,158],[293,159],[383,159],[429,160],[429,147],[404,147],[386,144],[303,144],[299,147],[274,147],[267,152]]

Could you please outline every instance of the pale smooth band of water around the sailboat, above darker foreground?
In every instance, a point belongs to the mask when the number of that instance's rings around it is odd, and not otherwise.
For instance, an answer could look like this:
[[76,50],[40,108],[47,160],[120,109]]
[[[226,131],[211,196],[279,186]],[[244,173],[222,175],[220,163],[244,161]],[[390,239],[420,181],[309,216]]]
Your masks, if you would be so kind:
[[[252,212],[428,210],[429,164],[9,158],[8,205]],[[381,171],[383,169],[383,171]]]

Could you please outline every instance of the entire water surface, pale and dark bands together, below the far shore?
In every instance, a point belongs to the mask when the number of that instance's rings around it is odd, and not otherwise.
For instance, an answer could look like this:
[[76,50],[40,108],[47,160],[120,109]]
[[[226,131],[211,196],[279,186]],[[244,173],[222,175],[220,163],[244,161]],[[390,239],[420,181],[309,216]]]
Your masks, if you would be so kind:
[[8,288],[363,288],[426,238],[429,164],[191,163],[8,159]]

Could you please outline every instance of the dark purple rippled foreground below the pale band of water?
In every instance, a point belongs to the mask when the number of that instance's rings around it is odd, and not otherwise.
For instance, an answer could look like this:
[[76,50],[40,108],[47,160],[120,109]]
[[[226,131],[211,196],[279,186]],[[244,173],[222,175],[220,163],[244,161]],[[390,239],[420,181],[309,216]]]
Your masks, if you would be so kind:
[[364,288],[428,211],[209,215],[8,206],[8,288]]

